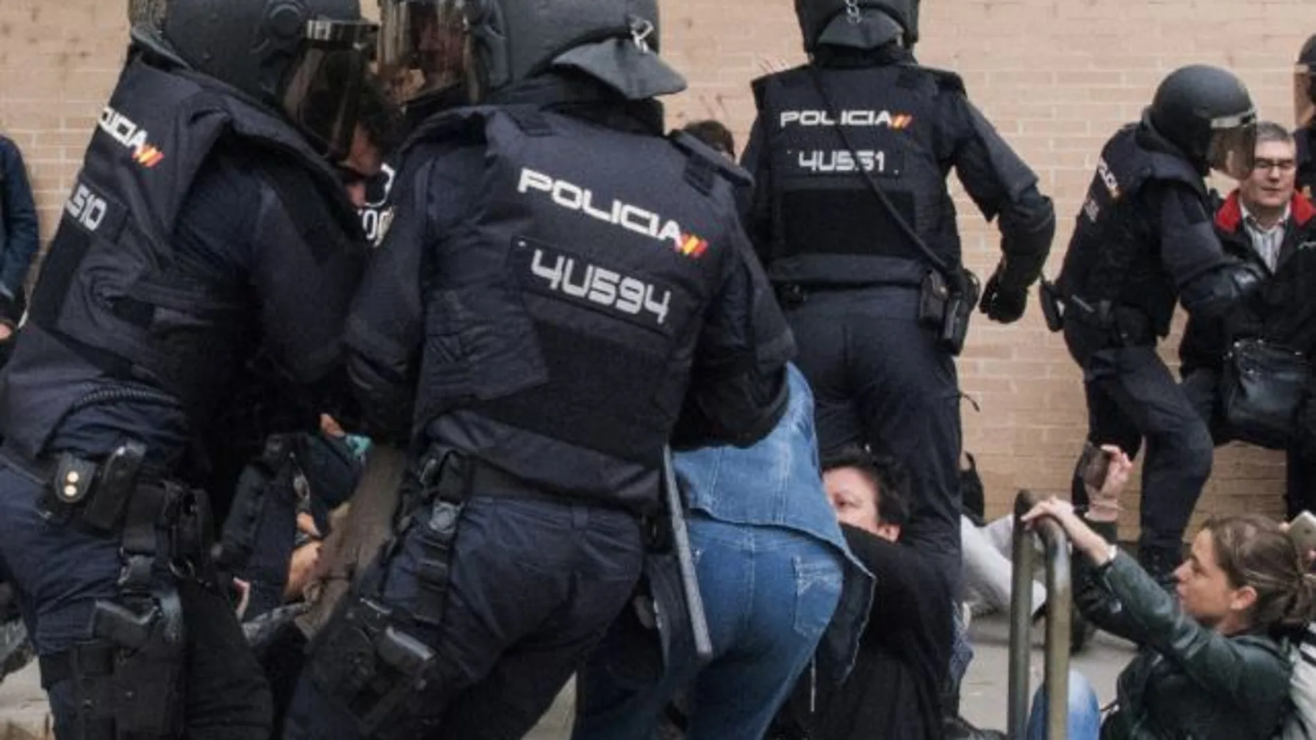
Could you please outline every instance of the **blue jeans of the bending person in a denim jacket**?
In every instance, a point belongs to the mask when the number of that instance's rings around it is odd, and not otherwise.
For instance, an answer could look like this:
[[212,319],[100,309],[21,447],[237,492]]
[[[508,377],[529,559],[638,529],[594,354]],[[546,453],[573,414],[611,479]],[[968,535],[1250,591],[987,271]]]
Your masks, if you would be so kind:
[[576,678],[572,740],[647,740],[663,708],[686,690],[688,740],[759,740],[813,656],[841,594],[842,557],[830,545],[779,527],[690,515],[713,660],[674,655],[654,681],[613,659],[628,644],[599,645]]

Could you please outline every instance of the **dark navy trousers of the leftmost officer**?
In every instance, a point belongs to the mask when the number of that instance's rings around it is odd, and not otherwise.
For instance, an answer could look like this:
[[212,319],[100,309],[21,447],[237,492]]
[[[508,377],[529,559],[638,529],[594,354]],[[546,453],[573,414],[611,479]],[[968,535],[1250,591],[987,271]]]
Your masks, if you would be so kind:
[[[97,599],[114,599],[118,542],[76,526],[41,519],[43,486],[0,463],[0,580],[17,597],[28,634],[42,656],[91,637]],[[179,585],[186,634],[183,711],[186,736],[197,740],[266,740],[270,690],[247,648],[228,598],[191,582]],[[71,680],[46,687],[59,740],[80,740]]]

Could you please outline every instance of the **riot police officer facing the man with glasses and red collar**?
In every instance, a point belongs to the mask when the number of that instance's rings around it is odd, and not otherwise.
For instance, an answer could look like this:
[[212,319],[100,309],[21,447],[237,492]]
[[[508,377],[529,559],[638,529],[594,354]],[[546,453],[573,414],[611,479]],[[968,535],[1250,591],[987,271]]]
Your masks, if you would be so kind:
[[[1083,368],[1088,440],[1134,455],[1146,438],[1138,555],[1166,584],[1211,474],[1212,443],[1155,344],[1175,301],[1211,322],[1261,279],[1225,256],[1203,180],[1211,170],[1236,179],[1250,171],[1255,120],[1230,72],[1170,74],[1142,121],[1101,150],[1058,280],[1065,343]],[[1080,477],[1074,498],[1086,502]]]

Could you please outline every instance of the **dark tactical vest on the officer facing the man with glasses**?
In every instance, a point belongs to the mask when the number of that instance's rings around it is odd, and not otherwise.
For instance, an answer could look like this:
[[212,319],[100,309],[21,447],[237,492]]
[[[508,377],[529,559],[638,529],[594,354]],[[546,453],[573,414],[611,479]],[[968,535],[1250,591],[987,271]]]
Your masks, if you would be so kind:
[[[1125,126],[1101,150],[1058,285],[1065,296],[1091,306],[1108,302],[1138,309],[1163,336],[1178,290],[1161,267],[1158,234],[1148,227],[1138,192],[1152,181],[1178,181],[1204,202],[1209,195],[1192,164],[1141,146],[1138,127]],[[1208,205],[1207,213],[1211,210]]]

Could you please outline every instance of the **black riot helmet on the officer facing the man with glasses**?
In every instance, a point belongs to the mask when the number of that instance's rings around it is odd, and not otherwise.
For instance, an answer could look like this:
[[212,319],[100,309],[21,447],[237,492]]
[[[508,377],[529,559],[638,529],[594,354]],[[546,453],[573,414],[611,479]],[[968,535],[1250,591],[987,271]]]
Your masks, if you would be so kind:
[[1203,175],[1219,170],[1242,180],[1252,171],[1257,108],[1242,80],[1227,70],[1192,64],[1170,72],[1146,121]]

